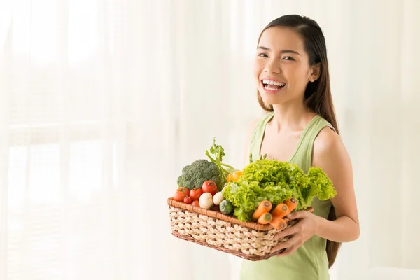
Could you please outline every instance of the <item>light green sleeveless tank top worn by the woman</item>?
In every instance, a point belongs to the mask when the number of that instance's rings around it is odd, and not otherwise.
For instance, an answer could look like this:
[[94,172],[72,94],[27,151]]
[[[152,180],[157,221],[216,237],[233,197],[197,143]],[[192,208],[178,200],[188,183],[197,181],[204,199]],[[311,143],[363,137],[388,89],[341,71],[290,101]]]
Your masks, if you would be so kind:
[[[265,127],[273,116],[274,112],[262,116],[255,127],[249,144],[249,151],[253,155],[253,160],[257,160],[260,156]],[[312,148],[315,138],[326,126],[331,127],[327,120],[319,115],[315,116],[302,132],[289,162],[296,164],[307,173],[309,167],[311,167]],[[327,218],[331,202],[330,200],[320,201],[315,197],[311,206],[314,207],[314,214]],[[328,274],[328,258],[325,252],[326,242],[326,239],[314,236],[302,244],[292,255],[286,257],[274,256],[268,260],[260,261],[243,260],[240,279],[328,280],[330,276]]]

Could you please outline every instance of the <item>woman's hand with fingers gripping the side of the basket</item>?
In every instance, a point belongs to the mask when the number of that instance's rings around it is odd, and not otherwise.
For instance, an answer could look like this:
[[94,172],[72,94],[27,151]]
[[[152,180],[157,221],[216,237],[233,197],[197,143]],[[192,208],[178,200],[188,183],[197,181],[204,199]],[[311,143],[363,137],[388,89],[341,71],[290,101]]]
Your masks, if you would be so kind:
[[292,212],[286,217],[290,218],[291,220],[300,219],[300,221],[292,227],[286,228],[286,230],[283,230],[274,236],[276,239],[280,239],[292,235],[288,241],[281,242],[279,245],[272,248],[272,253],[286,248],[283,253],[279,253],[277,255],[279,257],[291,255],[297,250],[297,248],[304,244],[305,241],[316,235],[316,232],[318,232],[318,221],[320,217],[309,211],[302,210]]

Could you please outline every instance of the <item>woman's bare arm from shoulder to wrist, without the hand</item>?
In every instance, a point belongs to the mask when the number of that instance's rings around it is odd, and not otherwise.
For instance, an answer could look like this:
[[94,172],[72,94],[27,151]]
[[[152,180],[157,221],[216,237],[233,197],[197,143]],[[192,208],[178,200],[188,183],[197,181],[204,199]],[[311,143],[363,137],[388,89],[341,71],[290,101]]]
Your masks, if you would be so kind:
[[360,235],[353,169],[342,139],[329,128],[316,137],[312,165],[321,167],[332,180],[337,195],[331,199],[337,220],[318,218],[316,235],[335,242],[349,242]]

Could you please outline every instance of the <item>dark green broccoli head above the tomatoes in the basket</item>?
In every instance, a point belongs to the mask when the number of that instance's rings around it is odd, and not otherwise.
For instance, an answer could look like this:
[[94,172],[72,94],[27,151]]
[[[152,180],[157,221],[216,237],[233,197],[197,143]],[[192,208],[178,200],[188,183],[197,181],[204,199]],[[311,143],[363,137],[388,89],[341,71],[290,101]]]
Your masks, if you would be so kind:
[[191,165],[182,169],[182,175],[178,177],[178,186],[186,187],[189,190],[201,188],[205,181],[214,181],[218,190],[222,188],[222,179],[219,168],[214,162],[209,160],[195,160]]

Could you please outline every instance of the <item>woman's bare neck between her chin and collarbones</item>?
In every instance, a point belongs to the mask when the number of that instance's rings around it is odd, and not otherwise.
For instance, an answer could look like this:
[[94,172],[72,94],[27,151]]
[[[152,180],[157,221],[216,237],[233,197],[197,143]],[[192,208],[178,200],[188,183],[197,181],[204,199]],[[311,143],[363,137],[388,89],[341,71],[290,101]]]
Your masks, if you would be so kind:
[[312,112],[303,102],[274,104],[274,118],[271,123],[276,132],[303,130],[316,113]]

